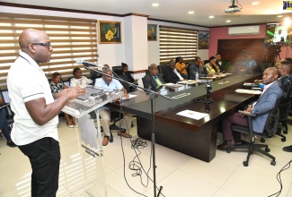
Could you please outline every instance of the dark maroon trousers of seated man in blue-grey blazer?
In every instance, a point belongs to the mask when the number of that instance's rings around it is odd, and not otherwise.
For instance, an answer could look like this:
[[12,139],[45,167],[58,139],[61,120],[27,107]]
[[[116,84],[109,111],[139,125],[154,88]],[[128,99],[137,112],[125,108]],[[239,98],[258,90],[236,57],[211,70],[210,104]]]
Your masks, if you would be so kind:
[[234,113],[231,116],[228,116],[223,122],[222,122],[222,128],[223,128],[223,140],[225,141],[239,141],[240,140],[240,133],[232,132],[231,125],[237,124],[240,126],[247,126],[247,118],[245,116],[241,116],[239,113]]

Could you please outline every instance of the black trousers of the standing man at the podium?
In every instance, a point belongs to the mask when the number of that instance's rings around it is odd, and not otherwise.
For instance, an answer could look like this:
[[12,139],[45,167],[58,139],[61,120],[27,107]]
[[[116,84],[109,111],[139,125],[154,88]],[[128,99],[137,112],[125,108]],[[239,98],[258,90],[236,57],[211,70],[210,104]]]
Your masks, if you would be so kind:
[[18,146],[31,161],[31,197],[53,197],[58,191],[60,147],[53,138]]

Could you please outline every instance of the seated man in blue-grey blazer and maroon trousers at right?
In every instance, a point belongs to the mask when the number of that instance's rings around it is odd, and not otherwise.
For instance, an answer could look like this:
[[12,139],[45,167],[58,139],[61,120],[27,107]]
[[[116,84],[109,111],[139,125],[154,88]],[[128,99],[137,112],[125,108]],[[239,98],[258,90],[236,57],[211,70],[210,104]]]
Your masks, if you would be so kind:
[[[279,71],[277,68],[267,68],[262,75],[262,82],[266,84],[266,86],[261,93],[260,99],[244,110],[247,113],[256,115],[252,118],[253,131],[256,133],[263,132],[270,110],[275,106],[276,100],[283,94],[283,90],[279,87],[278,78]],[[218,145],[217,149],[226,150],[234,146],[235,141],[240,141],[241,133],[233,133],[231,130],[232,124],[247,126],[247,118],[239,113],[234,113],[223,121],[224,143]]]

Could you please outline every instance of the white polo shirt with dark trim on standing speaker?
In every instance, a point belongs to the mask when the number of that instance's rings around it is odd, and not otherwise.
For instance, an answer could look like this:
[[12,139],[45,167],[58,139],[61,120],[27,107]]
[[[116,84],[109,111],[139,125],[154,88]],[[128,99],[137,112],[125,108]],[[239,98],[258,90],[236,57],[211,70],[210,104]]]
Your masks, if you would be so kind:
[[46,99],[46,104],[54,102],[49,81],[40,66],[22,51],[10,67],[7,76],[8,96],[15,114],[11,137],[17,145],[29,144],[41,138],[51,137],[58,141],[58,116],[47,124],[36,124],[25,102],[33,99]]

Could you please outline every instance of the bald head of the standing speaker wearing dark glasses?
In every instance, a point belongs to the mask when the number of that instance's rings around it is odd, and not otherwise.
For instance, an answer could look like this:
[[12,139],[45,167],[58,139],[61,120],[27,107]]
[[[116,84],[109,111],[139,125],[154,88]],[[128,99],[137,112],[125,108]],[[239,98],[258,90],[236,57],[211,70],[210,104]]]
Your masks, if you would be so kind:
[[23,30],[19,37],[19,46],[37,64],[49,62],[53,52],[49,37],[42,30]]

